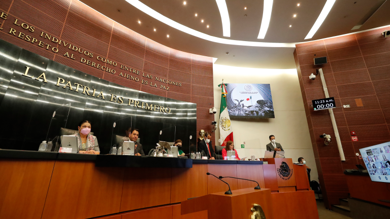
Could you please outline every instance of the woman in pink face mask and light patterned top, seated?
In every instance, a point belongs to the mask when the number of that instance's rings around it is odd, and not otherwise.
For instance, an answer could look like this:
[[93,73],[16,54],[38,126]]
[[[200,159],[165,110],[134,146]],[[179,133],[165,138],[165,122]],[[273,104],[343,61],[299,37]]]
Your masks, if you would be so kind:
[[80,154],[100,154],[98,138],[90,134],[91,123],[87,120],[79,123],[79,132],[74,134]]

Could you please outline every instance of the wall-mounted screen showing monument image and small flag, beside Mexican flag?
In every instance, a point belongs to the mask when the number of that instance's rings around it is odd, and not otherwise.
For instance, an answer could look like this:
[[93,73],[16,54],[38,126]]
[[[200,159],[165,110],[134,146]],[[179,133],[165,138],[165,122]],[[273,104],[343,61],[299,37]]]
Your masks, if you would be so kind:
[[275,118],[270,84],[226,84],[231,118]]

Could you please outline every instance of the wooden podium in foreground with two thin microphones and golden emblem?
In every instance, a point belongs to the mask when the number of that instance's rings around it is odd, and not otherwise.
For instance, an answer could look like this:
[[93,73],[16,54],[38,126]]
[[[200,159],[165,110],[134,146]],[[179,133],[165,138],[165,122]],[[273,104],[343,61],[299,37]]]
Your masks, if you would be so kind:
[[253,188],[233,190],[232,195],[213,193],[181,202],[181,215],[207,210],[208,218],[250,218],[253,204],[263,208],[266,218],[273,218],[271,190]]

